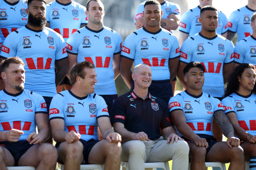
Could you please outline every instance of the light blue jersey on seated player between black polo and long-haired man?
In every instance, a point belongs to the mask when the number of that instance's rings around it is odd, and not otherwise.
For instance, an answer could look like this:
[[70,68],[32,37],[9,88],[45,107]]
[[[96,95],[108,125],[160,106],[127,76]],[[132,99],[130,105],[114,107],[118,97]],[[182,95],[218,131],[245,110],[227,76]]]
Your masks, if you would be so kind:
[[223,104],[220,100],[206,93],[195,96],[188,93],[187,90],[171,97],[168,108],[170,114],[172,114],[173,111],[182,110],[187,125],[189,125],[196,134],[212,136],[213,115],[216,111],[224,111]]

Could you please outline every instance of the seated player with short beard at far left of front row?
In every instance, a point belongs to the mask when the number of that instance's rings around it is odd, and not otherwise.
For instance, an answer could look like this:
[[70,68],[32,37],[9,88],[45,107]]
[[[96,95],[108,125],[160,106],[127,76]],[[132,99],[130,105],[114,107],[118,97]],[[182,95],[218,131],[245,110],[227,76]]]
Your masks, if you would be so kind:
[[0,169],[18,165],[55,170],[57,149],[41,143],[50,134],[46,103],[41,95],[24,89],[24,66],[19,57],[1,62],[5,88],[0,91]]

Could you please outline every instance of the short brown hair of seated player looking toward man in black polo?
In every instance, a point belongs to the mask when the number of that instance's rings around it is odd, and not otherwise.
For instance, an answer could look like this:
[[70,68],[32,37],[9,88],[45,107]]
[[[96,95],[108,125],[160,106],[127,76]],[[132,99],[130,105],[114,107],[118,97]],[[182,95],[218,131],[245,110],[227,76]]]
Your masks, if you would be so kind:
[[95,66],[88,62],[88,61],[83,61],[76,63],[69,71],[69,76],[70,76],[70,83],[73,85],[76,83],[76,77],[82,77],[84,79],[84,76],[86,75],[84,69],[85,68],[90,68],[94,69]]

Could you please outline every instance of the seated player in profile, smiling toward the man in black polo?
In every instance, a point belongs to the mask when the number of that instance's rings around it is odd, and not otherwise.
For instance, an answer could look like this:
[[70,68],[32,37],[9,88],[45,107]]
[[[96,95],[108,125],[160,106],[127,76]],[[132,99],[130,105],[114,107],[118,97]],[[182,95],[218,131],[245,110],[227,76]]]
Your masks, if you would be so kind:
[[81,163],[120,169],[121,136],[111,126],[106,102],[94,93],[94,68],[88,61],[73,66],[69,72],[72,88],[56,94],[50,104],[51,132],[65,170],[80,170]]

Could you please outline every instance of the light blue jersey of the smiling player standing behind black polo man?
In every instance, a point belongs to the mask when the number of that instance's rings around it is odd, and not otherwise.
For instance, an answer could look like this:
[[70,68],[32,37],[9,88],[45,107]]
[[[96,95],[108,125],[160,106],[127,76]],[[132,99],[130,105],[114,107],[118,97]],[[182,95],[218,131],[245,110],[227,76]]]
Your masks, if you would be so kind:
[[175,35],[160,28],[150,32],[144,27],[136,30],[123,42],[122,57],[133,60],[134,66],[144,63],[152,70],[152,80],[169,80],[169,59],[180,57]]

